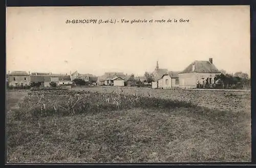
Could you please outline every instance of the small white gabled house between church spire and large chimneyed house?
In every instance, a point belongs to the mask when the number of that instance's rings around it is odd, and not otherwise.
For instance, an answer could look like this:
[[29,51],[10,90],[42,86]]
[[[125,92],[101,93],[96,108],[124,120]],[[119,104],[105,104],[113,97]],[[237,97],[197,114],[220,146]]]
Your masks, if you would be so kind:
[[170,89],[179,88],[179,73],[177,71],[169,71],[163,74],[160,79],[158,79],[158,88]]

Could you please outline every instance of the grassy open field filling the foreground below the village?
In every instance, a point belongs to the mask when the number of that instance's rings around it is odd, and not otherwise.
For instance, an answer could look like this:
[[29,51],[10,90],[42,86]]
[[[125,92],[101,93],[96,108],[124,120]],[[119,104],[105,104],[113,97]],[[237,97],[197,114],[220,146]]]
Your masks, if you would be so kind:
[[250,93],[72,90],[7,92],[8,162],[251,160]]

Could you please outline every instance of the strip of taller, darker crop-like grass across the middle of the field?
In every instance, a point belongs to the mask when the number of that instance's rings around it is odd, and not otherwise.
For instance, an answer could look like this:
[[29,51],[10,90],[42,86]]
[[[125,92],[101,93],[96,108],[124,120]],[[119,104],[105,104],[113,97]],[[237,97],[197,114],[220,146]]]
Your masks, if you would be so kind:
[[190,102],[144,97],[138,94],[98,93],[89,91],[32,91],[19,103],[16,119],[38,118],[52,115],[70,116],[95,114],[104,111],[131,108],[192,107]]

